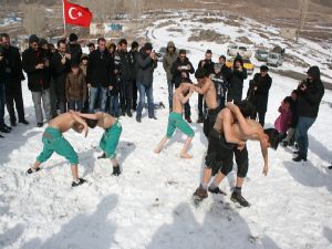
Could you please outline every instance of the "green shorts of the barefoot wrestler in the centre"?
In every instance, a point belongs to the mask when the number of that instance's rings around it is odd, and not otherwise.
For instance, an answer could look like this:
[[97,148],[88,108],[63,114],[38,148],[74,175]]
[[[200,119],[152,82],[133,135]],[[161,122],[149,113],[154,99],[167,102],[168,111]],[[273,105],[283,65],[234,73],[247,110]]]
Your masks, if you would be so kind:
[[195,135],[194,129],[188,125],[187,122],[184,121],[181,114],[169,113],[166,136],[168,138],[170,138],[176,128],[178,128],[179,131],[181,131],[184,134],[186,134],[189,137],[194,137],[194,135]]

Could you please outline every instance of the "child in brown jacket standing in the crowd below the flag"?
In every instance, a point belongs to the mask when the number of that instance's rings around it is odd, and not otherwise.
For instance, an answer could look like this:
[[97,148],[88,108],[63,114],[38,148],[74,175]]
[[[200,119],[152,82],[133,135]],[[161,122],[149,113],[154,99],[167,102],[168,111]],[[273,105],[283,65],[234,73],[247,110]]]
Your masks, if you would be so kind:
[[86,80],[79,64],[73,63],[71,70],[65,80],[65,96],[69,110],[81,112],[87,96]]

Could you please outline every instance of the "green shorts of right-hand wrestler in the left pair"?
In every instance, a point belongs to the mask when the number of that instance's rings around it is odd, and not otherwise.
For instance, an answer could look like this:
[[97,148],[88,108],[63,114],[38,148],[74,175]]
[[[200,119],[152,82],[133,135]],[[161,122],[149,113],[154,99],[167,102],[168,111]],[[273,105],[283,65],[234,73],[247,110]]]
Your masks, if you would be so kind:
[[117,121],[112,127],[107,128],[101,139],[100,147],[106,154],[107,158],[114,158],[116,156],[115,149],[118,144],[120,135],[122,133],[122,126]]

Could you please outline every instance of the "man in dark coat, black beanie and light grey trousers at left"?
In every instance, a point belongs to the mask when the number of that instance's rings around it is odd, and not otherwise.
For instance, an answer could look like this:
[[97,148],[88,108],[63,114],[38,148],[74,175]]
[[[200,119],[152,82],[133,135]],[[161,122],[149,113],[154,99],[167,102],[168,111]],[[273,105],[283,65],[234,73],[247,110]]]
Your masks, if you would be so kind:
[[43,126],[43,113],[41,102],[46,116],[46,121],[51,117],[50,106],[50,82],[49,61],[42,50],[38,48],[39,38],[32,34],[29,38],[29,49],[22,54],[22,66],[28,74],[28,87],[32,93],[32,100],[35,111],[37,126]]

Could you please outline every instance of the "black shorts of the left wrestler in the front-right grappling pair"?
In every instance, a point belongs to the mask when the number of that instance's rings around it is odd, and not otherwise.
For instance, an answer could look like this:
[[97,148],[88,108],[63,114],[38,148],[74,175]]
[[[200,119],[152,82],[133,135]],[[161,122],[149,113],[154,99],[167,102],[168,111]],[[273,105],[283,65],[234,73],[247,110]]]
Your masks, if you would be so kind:
[[211,129],[208,137],[208,151],[205,157],[205,165],[212,169],[212,175],[222,167],[232,167],[234,144],[225,139],[225,135]]

